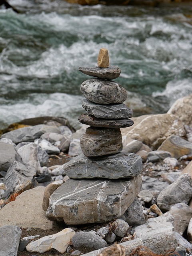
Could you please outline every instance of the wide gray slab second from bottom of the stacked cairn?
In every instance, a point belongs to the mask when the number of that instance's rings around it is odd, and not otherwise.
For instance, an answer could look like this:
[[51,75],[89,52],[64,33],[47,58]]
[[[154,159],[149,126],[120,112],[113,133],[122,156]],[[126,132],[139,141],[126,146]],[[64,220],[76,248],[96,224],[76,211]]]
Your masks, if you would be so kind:
[[81,154],[64,164],[63,168],[67,176],[73,179],[131,178],[140,174],[142,159],[134,153],[118,153],[100,158],[88,158]]

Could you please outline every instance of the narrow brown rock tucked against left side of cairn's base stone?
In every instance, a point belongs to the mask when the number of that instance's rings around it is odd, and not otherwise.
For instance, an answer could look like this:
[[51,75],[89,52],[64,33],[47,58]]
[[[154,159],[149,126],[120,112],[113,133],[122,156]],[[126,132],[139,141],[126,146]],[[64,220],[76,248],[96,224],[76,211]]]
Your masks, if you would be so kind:
[[49,207],[50,196],[63,183],[64,183],[63,180],[55,180],[54,182],[52,182],[48,186],[46,186],[44,195],[43,195],[43,203],[42,203],[42,208],[45,212],[46,212],[47,208]]

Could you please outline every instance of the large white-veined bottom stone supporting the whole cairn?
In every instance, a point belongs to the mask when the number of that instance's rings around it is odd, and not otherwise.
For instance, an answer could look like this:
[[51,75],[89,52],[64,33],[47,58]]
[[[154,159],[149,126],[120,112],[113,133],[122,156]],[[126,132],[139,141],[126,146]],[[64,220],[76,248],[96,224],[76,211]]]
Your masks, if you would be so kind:
[[118,181],[69,179],[50,196],[46,216],[69,225],[109,222],[124,214],[141,182],[140,175]]

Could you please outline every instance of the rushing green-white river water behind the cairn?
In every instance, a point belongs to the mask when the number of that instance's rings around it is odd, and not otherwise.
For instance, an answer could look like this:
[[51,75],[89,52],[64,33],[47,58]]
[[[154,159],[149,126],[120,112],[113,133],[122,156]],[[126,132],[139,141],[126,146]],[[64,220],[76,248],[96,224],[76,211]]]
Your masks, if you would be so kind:
[[24,118],[64,116],[77,128],[100,48],[128,92],[134,116],[166,112],[192,93],[192,5],[80,6],[10,0],[0,9],[0,128]]

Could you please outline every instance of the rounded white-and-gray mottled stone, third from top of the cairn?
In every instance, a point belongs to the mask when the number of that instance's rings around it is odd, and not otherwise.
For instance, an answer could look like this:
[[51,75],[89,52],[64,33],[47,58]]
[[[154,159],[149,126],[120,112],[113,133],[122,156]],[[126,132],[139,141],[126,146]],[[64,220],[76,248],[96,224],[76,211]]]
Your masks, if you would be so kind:
[[81,84],[83,96],[95,103],[122,103],[127,98],[127,92],[117,82],[99,78],[90,78]]

